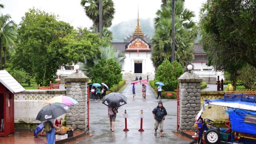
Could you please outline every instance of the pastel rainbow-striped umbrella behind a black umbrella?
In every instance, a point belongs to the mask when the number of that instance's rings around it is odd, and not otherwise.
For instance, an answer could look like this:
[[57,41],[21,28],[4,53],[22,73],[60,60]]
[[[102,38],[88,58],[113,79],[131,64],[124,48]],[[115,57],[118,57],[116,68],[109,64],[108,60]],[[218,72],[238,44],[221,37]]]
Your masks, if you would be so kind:
[[66,105],[73,105],[73,104],[78,103],[76,100],[74,100],[73,98],[70,98],[69,96],[55,96],[55,97],[51,98],[50,100],[47,100],[45,103],[52,104],[54,102],[60,102],[62,104],[66,104]]

